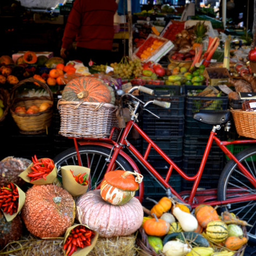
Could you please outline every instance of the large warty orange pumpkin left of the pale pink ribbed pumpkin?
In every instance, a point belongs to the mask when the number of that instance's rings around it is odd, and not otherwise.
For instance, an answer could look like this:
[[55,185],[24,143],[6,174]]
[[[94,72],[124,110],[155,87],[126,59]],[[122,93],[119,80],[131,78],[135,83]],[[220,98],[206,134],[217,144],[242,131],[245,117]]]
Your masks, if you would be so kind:
[[33,185],[26,192],[21,217],[28,231],[39,238],[61,236],[73,225],[75,201],[56,185]]

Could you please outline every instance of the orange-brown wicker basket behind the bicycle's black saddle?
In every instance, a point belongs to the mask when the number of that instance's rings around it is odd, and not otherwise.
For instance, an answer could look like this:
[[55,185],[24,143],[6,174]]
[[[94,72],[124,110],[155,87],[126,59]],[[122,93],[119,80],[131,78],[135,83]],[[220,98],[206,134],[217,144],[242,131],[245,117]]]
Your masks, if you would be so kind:
[[236,132],[240,136],[256,139],[256,112],[231,110]]

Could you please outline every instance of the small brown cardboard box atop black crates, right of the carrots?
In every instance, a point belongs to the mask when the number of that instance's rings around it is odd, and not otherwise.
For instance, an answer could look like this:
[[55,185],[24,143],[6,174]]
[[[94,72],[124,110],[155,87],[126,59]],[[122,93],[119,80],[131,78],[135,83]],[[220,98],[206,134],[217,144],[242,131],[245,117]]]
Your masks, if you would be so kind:
[[[212,73],[224,75],[226,78],[212,78]],[[206,68],[204,69],[203,76],[208,80],[208,85],[226,85],[231,77],[227,68]]]

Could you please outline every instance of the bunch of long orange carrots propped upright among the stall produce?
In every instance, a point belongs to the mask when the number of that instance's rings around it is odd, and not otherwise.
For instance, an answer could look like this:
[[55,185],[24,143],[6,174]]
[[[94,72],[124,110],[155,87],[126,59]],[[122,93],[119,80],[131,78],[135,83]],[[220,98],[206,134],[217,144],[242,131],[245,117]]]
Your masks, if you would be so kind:
[[204,65],[204,67],[209,66],[210,60],[212,59],[215,50],[220,44],[220,39],[218,37],[211,37],[211,36],[209,36],[208,38],[209,38],[209,42],[208,42],[208,47],[206,52],[203,53],[202,44],[200,44],[199,47],[195,48],[194,61],[192,62],[189,68],[189,71],[193,70],[195,65],[197,65],[197,63],[199,63],[199,66],[201,64]]

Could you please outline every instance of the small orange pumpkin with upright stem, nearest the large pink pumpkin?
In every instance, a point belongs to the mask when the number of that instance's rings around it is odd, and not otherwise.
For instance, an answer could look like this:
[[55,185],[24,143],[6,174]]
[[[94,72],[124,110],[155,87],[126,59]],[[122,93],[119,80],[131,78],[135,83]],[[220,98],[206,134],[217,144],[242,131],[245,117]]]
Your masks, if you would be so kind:
[[154,218],[148,219],[144,222],[143,228],[148,235],[163,236],[170,230],[170,224],[165,220],[158,219],[156,214]]

